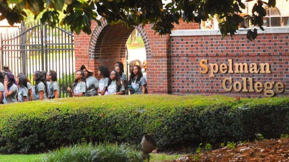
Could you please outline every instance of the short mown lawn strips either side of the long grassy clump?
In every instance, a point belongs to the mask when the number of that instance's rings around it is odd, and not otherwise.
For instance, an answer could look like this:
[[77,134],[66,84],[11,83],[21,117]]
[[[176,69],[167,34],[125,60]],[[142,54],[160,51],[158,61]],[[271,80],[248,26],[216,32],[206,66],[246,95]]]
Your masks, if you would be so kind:
[[[1,162],[33,162],[41,157],[44,154],[31,154],[31,155],[0,155]],[[150,154],[150,162],[162,162],[162,161],[172,161],[179,157],[183,157],[185,155],[166,155],[166,154]]]

